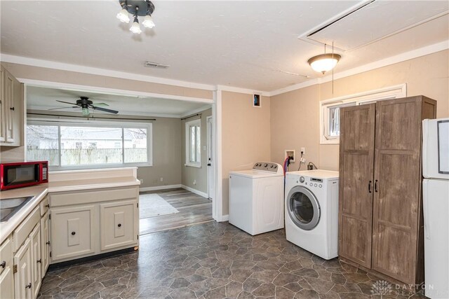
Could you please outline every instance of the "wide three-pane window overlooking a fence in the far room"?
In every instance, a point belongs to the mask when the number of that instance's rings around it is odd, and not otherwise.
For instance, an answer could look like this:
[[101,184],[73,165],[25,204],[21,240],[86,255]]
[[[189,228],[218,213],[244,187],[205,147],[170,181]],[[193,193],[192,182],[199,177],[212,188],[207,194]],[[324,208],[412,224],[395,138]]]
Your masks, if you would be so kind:
[[27,160],[51,169],[152,165],[152,124],[59,123],[29,120]]

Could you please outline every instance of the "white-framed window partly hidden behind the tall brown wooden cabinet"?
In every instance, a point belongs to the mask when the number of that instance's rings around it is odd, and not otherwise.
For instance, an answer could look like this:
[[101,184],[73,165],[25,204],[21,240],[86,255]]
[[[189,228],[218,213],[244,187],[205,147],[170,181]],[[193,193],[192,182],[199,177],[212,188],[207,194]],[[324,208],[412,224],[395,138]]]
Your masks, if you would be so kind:
[[340,143],[340,109],[346,106],[370,104],[384,99],[406,97],[406,84],[371,90],[320,102],[320,144]]

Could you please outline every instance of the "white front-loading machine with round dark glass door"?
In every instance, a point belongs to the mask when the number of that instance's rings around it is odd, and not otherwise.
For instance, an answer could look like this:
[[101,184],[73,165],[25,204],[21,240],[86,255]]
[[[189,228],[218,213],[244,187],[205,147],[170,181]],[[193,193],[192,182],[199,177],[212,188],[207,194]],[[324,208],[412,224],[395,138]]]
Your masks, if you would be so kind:
[[338,256],[338,172],[287,172],[286,237],[326,260]]

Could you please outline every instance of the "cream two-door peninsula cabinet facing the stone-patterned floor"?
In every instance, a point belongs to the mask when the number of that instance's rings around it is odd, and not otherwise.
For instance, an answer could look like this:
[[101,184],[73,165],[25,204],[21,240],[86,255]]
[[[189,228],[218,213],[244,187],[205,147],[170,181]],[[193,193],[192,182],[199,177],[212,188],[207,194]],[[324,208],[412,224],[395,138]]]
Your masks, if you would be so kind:
[[50,263],[138,246],[138,196],[138,186],[50,193]]

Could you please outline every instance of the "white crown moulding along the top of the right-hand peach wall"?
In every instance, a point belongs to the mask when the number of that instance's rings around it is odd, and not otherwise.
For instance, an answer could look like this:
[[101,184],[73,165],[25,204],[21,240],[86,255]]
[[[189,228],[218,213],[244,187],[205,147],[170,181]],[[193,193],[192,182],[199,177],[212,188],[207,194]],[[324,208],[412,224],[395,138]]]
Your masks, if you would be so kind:
[[[418,48],[415,50],[411,50],[405,53],[401,53],[398,55],[394,55],[391,57],[387,57],[383,60],[377,60],[375,62],[371,62],[368,64],[364,64],[360,67],[354,67],[353,69],[348,69],[347,71],[341,71],[339,73],[334,74],[334,80],[353,76],[356,74],[361,74],[365,71],[372,71],[373,69],[380,69],[381,67],[387,67],[391,64],[396,64],[399,62],[404,62],[406,60],[412,60],[417,57],[422,57],[425,55],[430,55],[433,53],[437,53],[443,50],[449,49],[449,40],[441,41],[440,43],[434,43],[433,45],[425,46],[422,48]],[[297,83],[295,85],[288,86],[286,88],[280,88],[279,90],[273,90],[269,92],[269,97],[274,97],[275,95],[281,95],[285,92],[290,92],[293,90],[298,90],[301,88],[306,88],[311,85],[321,84],[332,81],[332,76],[329,74],[324,77],[314,78],[309,81],[304,81],[302,83]]]

